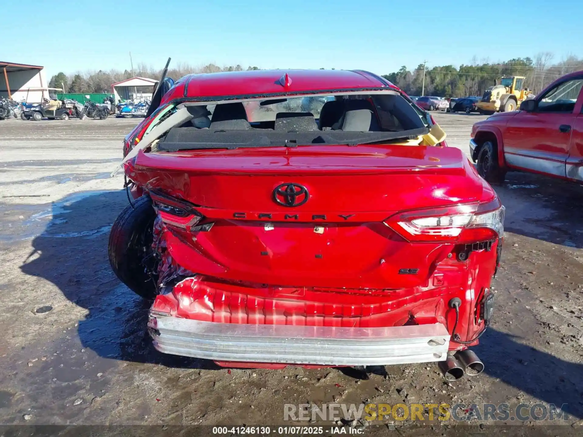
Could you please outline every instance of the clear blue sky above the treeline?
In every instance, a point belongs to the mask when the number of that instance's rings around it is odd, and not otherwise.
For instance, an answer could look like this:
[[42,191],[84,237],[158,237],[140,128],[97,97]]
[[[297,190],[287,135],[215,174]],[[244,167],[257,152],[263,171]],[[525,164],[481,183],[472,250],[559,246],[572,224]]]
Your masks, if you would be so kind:
[[[583,57],[583,1],[34,0],[3,2],[0,60],[47,76],[139,62],[367,69]],[[512,17],[505,20],[505,17]],[[508,24],[504,24],[507,22]],[[49,31],[54,29],[56,31]],[[19,37],[20,36],[20,37]],[[34,40],[32,36],[37,36]]]

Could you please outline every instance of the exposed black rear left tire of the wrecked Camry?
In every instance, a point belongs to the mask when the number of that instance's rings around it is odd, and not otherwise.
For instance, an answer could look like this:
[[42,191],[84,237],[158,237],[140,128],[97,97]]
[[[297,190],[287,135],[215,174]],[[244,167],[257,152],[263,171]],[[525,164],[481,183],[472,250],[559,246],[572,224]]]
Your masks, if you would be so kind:
[[111,226],[108,255],[115,276],[145,299],[156,297],[156,283],[146,272],[145,261],[152,256],[156,213],[152,199],[142,196],[128,205]]

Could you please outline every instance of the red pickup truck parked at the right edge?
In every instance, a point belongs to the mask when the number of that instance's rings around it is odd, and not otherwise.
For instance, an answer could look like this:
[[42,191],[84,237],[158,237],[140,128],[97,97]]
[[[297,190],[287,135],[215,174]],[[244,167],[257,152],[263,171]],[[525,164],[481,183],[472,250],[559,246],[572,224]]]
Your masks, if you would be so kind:
[[470,151],[479,174],[491,183],[514,170],[583,181],[582,89],[583,71],[570,73],[519,111],[473,125]]

